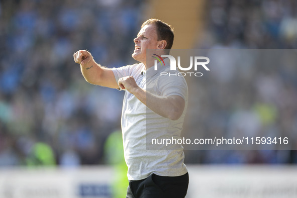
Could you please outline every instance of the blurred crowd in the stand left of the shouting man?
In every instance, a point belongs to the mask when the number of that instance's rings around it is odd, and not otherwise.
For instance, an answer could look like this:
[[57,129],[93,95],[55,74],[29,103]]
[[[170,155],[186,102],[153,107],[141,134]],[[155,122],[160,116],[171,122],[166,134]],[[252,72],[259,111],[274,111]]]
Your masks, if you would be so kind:
[[105,140],[121,127],[123,92],[85,82],[73,53],[87,49],[109,67],[134,63],[142,6],[0,2],[0,166],[104,163]]

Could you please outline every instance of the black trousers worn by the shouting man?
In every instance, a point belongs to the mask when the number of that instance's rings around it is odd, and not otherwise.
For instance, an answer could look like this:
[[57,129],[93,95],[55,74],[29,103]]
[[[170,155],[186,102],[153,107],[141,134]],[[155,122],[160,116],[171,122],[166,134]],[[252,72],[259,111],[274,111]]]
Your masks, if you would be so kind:
[[145,179],[129,181],[126,198],[184,198],[188,182],[188,173],[177,177],[152,174]]

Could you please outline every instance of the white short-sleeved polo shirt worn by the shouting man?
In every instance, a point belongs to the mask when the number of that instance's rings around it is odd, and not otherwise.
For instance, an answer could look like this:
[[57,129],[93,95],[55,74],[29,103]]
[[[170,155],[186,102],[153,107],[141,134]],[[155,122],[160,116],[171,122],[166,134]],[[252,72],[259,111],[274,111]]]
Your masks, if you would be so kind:
[[[185,100],[182,116],[172,121],[154,113],[133,94],[125,92],[121,125],[129,180],[144,179],[152,173],[160,176],[180,176],[187,172],[181,145],[173,145],[169,150],[166,144],[151,144],[152,138],[180,137],[187,107],[186,81],[181,76],[160,76],[160,72],[178,72],[170,71],[169,59],[164,61],[166,66],[158,64],[157,71],[154,67],[145,71],[143,63],[113,68],[116,81],[125,76],[133,76],[137,85],[147,92],[160,96],[179,95]],[[151,98],[147,98],[147,101],[149,100]]]

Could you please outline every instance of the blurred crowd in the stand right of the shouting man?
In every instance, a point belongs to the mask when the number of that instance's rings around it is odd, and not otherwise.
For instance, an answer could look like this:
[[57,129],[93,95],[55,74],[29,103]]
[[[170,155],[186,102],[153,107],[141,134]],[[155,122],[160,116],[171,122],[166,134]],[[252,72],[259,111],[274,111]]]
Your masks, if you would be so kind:
[[191,150],[186,161],[297,163],[297,2],[211,0],[205,20],[196,48],[212,49],[212,66],[190,91],[196,95],[191,104],[199,106],[189,112],[190,130],[225,138],[288,137],[289,144],[284,150]]

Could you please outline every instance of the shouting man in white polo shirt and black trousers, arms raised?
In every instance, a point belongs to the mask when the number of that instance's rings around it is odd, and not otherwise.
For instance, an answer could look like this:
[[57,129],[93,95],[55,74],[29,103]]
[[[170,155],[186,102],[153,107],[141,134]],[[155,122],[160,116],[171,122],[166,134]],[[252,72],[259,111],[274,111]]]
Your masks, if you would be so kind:
[[[181,145],[158,145],[158,150],[147,149],[151,138],[178,138],[187,105],[187,85],[178,75],[160,76],[170,71],[168,58],[157,64],[147,57],[148,49],[161,56],[171,49],[172,28],[157,19],[143,23],[134,39],[132,57],[140,63],[120,68],[105,68],[95,63],[85,50],[77,51],[74,61],[89,83],[125,90],[122,133],[124,156],[128,166],[127,197],[184,197],[188,187],[188,173],[183,163]],[[175,71],[177,72],[177,71]],[[176,73],[175,73],[176,74]],[[149,142],[150,143],[150,142]]]

